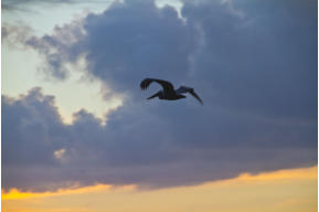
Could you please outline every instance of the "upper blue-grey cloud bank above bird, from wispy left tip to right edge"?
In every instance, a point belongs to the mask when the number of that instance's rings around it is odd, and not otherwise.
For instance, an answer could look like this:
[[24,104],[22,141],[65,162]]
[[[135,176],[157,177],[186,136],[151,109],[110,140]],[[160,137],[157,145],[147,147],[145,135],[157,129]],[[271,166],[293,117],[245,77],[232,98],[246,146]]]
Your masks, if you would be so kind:
[[88,74],[117,92],[134,95],[143,77],[159,77],[211,91],[204,98],[232,109],[316,121],[317,2],[259,3],[242,2],[238,17],[233,4],[185,2],[184,23],[152,1],[115,2],[61,28],[77,38],[71,43],[53,34],[26,44],[45,52],[56,77],[67,73],[63,63],[86,55]]

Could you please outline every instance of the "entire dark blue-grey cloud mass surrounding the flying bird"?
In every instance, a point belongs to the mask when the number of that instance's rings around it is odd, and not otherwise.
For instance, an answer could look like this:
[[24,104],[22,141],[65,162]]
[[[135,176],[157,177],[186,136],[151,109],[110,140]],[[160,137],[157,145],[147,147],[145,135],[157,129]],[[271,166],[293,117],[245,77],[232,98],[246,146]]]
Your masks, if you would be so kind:
[[[184,20],[117,2],[30,39],[53,76],[85,56],[88,75],[130,97],[106,126],[85,110],[63,125],[40,89],[3,97],[3,187],[167,187],[317,165],[317,2],[302,2],[190,1]],[[159,86],[140,92],[143,77],[193,86],[204,106],[145,102]]]

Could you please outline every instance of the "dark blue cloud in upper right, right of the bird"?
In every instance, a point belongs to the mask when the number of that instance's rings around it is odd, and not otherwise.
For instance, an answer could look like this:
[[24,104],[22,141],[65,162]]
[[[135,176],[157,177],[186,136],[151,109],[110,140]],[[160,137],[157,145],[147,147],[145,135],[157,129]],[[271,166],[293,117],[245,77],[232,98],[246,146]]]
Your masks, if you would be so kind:
[[243,19],[214,2],[183,7],[189,25],[200,28],[205,41],[194,77],[208,80],[215,100],[227,107],[316,121],[317,2],[246,4]]

